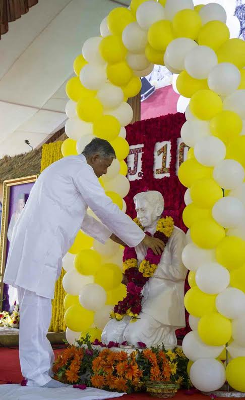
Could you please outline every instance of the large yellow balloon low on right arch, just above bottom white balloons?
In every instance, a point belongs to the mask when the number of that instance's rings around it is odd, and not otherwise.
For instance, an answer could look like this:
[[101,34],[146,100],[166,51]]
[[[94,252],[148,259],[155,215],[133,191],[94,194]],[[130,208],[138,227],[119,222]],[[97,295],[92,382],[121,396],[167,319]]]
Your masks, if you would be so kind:
[[231,321],[217,312],[204,315],[198,323],[198,334],[209,346],[225,345],[231,333]]

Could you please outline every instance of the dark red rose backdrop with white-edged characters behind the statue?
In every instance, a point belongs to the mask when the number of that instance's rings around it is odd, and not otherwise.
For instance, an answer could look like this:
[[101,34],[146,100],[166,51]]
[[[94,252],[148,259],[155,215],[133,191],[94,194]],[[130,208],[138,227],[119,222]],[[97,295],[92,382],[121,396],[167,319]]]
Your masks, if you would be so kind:
[[[164,216],[171,216],[174,225],[187,231],[182,221],[186,188],[178,180],[178,168],[186,159],[188,147],[180,138],[186,121],[181,113],[139,121],[127,127],[130,154],[127,159],[131,189],[125,198],[127,214],[136,217],[133,197],[146,190],[158,190],[165,201]],[[186,291],[189,289],[186,281]],[[190,331],[186,312],[186,329],[177,331],[181,337]]]

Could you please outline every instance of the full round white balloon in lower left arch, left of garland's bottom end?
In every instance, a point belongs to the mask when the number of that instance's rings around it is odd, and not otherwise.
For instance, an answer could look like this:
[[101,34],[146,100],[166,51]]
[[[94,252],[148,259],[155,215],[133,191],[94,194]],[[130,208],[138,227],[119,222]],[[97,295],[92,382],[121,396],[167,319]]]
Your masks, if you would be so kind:
[[79,293],[79,303],[91,311],[98,311],[106,302],[106,291],[97,283],[88,283]]

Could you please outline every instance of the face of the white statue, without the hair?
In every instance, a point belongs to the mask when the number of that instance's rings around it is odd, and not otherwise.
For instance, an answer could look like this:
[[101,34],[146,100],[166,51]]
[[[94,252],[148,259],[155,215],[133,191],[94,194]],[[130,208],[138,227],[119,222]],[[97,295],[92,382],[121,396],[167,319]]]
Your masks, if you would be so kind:
[[159,215],[159,207],[156,204],[150,204],[146,198],[139,198],[136,201],[135,209],[137,218],[144,228],[152,226],[157,221]]

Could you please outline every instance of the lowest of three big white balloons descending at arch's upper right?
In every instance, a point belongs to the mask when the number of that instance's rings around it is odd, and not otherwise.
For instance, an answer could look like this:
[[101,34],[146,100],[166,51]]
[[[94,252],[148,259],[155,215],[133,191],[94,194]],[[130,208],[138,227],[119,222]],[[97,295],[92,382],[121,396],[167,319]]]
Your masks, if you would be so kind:
[[208,75],[208,86],[221,96],[227,96],[237,89],[241,74],[238,68],[231,63],[216,65]]

